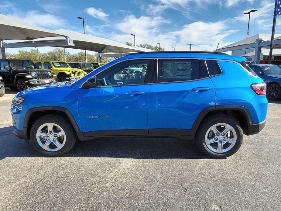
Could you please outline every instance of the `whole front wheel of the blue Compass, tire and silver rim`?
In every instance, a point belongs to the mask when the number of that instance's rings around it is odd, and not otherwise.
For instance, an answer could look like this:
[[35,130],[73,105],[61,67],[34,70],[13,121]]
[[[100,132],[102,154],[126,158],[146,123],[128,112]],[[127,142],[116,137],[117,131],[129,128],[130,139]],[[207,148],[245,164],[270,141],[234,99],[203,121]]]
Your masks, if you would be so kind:
[[77,136],[67,119],[62,116],[46,115],[33,123],[30,140],[39,153],[57,157],[72,149]]

